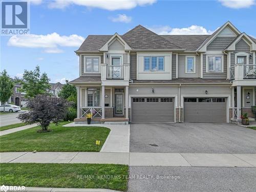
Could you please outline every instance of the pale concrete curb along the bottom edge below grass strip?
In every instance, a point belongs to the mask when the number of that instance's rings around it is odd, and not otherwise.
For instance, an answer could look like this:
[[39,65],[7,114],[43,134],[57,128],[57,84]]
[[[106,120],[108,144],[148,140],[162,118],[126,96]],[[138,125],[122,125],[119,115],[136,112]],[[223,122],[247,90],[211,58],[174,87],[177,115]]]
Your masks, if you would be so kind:
[[100,188],[47,188],[47,187],[26,187],[28,192],[120,192],[118,190]]

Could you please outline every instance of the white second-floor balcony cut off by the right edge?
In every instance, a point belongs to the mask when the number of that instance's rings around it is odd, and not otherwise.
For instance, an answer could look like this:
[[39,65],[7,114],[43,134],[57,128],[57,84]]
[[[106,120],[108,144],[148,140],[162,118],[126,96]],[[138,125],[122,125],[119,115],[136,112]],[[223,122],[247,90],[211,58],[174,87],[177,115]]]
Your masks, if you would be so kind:
[[236,64],[229,68],[230,80],[256,79],[256,65]]

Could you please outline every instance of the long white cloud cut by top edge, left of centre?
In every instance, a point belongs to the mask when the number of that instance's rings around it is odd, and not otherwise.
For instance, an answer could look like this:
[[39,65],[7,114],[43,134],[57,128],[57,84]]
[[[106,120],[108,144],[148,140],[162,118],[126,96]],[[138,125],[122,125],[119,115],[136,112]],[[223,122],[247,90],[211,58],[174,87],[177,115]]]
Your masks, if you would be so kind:
[[157,0],[55,0],[48,4],[49,8],[63,9],[70,5],[100,8],[109,11],[132,9],[137,6],[152,5]]

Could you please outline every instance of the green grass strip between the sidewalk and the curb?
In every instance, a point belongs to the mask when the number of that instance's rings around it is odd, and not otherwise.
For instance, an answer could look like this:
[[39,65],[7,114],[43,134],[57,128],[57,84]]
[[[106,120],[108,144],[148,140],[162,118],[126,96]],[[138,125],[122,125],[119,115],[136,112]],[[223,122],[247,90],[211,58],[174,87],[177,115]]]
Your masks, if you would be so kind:
[[[1,163],[0,185],[127,190],[127,165]],[[119,176],[102,179],[98,176]],[[78,176],[94,176],[79,179]]]

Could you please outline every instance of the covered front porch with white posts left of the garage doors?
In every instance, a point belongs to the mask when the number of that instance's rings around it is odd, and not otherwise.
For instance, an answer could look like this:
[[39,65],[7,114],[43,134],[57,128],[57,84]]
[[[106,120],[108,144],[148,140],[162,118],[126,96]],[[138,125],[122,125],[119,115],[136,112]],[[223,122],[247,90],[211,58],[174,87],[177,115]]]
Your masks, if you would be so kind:
[[77,118],[75,123],[87,122],[92,114],[93,123],[129,122],[128,86],[77,86]]

